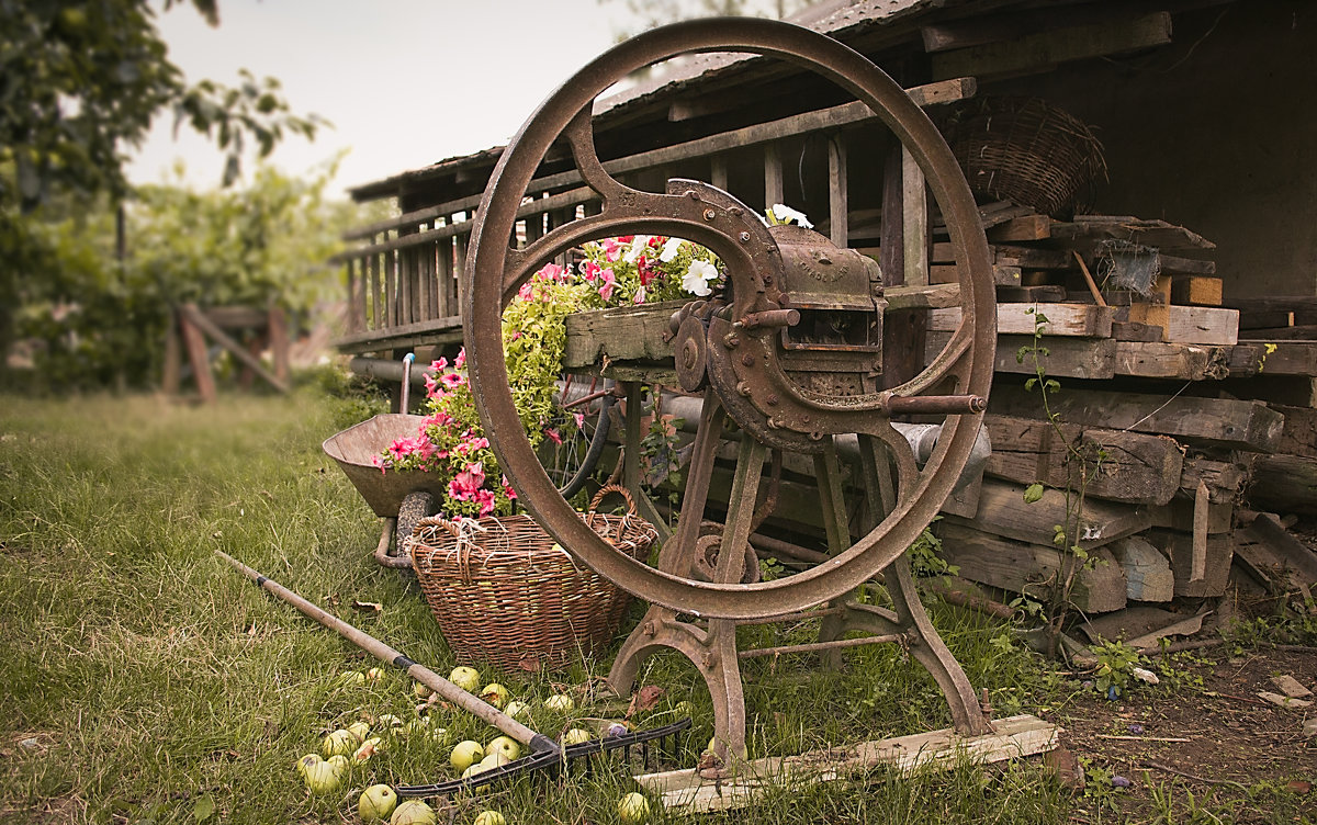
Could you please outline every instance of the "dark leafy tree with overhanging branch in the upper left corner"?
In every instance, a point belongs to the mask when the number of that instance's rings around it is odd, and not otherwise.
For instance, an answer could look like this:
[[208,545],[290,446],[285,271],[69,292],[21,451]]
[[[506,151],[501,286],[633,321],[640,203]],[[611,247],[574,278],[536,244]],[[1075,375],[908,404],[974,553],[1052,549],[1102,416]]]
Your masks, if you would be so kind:
[[[219,24],[215,0],[191,4]],[[67,263],[61,221],[97,197],[108,197],[112,211],[122,203],[124,153],[141,145],[158,113],[173,109],[175,126],[186,122],[216,141],[228,155],[228,186],[245,147],[263,158],[284,134],[312,138],[323,124],[291,114],[278,89],[246,72],[233,88],[213,80],[188,87],[146,0],[0,0],[0,358],[12,341],[20,280],[49,279]]]

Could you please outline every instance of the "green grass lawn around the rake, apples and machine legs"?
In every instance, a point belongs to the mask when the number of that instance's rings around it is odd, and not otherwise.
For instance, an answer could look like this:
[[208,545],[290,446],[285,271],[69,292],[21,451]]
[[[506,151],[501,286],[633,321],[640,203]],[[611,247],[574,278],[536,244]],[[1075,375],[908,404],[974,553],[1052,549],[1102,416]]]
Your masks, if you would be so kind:
[[[211,408],[148,396],[0,399],[0,822],[356,822],[365,786],[452,775],[449,745],[399,737],[338,792],[309,795],[298,758],[353,721],[414,718],[412,686],[398,671],[345,684],[341,674],[375,662],[212,553],[237,557],[439,672],[458,664],[415,582],[370,559],[378,520],[320,451],[321,439],[362,412],[360,403],[309,389],[291,399],[227,397]],[[998,716],[1092,701],[1075,679],[1013,643],[1006,625],[931,607]],[[633,605],[632,618],[639,611]],[[777,633],[781,643],[782,636],[806,639],[811,628],[743,632]],[[532,726],[552,734],[569,720],[545,712],[543,699],[586,686],[607,664],[553,675],[486,668],[482,676],[531,701]],[[749,661],[744,672],[752,757],[950,725],[932,680],[892,646],[851,653],[838,672],[807,657]],[[693,764],[712,732],[697,674],[674,655],[656,657],[640,684],[666,689],[660,713],[691,701],[695,728],[674,757]],[[615,709],[583,701],[574,713]],[[456,738],[495,736],[460,712],[435,713]],[[631,789],[620,764],[565,780],[529,775],[446,800],[452,808],[439,821],[471,822],[495,808],[510,824],[612,822],[616,800]],[[1155,809],[1139,808],[1135,818],[1094,796],[1102,792],[1090,783],[1087,796],[1073,795],[1031,759],[914,778],[874,774],[781,791],[751,811],[655,811],[653,820],[1155,821]],[[1275,799],[1276,818],[1258,821],[1299,821],[1300,804]],[[1168,811],[1180,817],[1162,821],[1227,821],[1184,816],[1223,811],[1201,801]]]

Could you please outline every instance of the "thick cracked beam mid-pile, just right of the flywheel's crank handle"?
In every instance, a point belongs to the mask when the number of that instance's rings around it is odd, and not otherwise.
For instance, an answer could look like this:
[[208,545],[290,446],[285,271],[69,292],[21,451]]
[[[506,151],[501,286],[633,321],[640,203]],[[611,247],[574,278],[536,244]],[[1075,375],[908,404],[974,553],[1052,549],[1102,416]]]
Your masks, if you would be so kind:
[[1100,464],[1089,458],[1087,495],[1090,497],[1166,504],[1180,489],[1184,455],[1173,438],[1084,430],[1072,424],[1054,428],[1038,418],[994,413],[984,416],[984,426],[993,445],[986,472],[997,478],[1021,484],[1077,486],[1081,464],[1067,449],[1069,442],[1080,445],[1085,455],[1096,455],[1097,450],[1106,455]]

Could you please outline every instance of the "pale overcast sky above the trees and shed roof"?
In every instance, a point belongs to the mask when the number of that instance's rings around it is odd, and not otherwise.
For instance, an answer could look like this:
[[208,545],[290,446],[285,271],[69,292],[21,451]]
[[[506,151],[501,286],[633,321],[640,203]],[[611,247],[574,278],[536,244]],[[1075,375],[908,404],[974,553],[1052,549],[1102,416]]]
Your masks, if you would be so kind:
[[[153,3],[159,7],[161,4]],[[503,145],[549,92],[608,49],[626,20],[598,0],[220,0],[220,25],[191,5],[157,17],[170,59],[188,83],[236,86],[238,70],[274,76],[298,114],[333,129],[315,142],[286,137],[270,161],[294,175],[348,149],[331,187],[389,178]],[[157,120],[128,174],[219,186],[223,157],[173,116]],[[245,170],[252,161],[244,159]]]

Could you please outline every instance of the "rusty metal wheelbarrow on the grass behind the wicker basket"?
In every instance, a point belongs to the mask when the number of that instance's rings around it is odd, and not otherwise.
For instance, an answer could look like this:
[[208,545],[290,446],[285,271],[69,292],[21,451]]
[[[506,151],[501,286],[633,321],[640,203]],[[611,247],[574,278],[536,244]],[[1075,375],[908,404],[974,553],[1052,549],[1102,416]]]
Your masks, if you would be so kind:
[[[411,364],[414,353],[403,358],[403,389],[400,409],[407,409],[411,395]],[[402,413],[382,413],[349,426],[325,438],[320,447],[329,458],[338,462],[348,480],[352,482],[370,509],[385,520],[375,547],[375,561],[385,567],[410,568],[411,557],[403,547],[403,539],[411,536],[416,522],[435,512],[435,501],[443,497],[444,479],[416,470],[390,470],[381,472],[371,459],[383,453],[399,438],[415,437],[424,416]],[[396,551],[389,553],[398,536]]]

